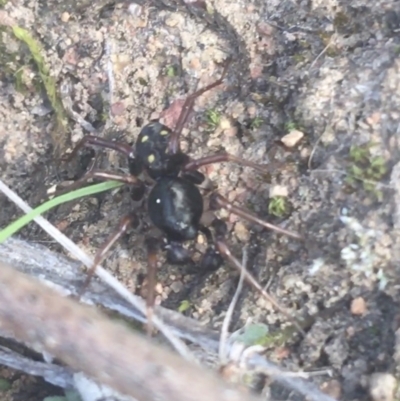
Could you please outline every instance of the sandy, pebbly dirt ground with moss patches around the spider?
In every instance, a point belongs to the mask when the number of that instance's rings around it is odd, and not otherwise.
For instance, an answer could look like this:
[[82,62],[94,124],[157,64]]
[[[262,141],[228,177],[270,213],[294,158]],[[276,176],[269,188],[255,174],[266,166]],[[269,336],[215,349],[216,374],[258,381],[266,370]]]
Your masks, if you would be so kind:
[[[249,245],[248,269],[257,280],[296,316],[316,316],[305,338],[268,357],[293,371],[332,369],[332,377],[312,380],[343,400],[366,399],[373,373],[398,377],[400,3],[60,3],[0,1],[2,179],[37,205],[48,188],[83,174],[87,152],[70,165],[59,158],[91,128],[133,143],[144,124],[217,79],[231,58],[224,84],[197,101],[182,148],[195,158],[225,149],[265,164],[265,174],[232,163],[202,171],[229,200],[305,238],[220,214],[232,251],[240,257]],[[62,93],[65,127],[55,123],[37,65],[10,24],[40,41]],[[293,132],[303,138],[283,146]],[[126,171],[124,158],[101,155],[102,168]],[[282,217],[273,213],[276,194],[286,200]],[[143,225],[113,248],[105,266],[140,292],[150,223],[127,190],[47,217],[94,253],[133,207]],[[1,198],[0,227],[19,215]],[[21,235],[61,251],[33,224]],[[164,265],[158,281],[164,306],[190,301],[185,313],[219,328],[238,274],[228,265],[207,274]],[[246,286],[231,329],[248,319],[271,330],[288,323]]]

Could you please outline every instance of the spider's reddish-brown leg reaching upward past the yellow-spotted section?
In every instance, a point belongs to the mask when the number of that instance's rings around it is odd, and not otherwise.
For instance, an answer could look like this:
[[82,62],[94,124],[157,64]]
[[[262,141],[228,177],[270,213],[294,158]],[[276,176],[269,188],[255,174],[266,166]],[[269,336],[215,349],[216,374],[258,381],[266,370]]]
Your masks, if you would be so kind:
[[193,109],[193,105],[195,100],[200,97],[203,93],[208,92],[209,90],[217,87],[218,85],[221,85],[222,82],[224,81],[225,75],[228,71],[228,67],[230,65],[230,61],[227,61],[224,67],[224,70],[222,71],[221,78],[219,78],[217,81],[213,82],[210,85],[205,86],[204,88],[199,89],[198,91],[192,93],[189,95],[185,103],[183,104],[181,114],[179,115],[178,121],[176,123],[175,129],[171,134],[169,145],[168,145],[168,152],[170,154],[176,154],[179,153],[180,151],[180,146],[179,146],[179,139],[180,135],[182,133],[182,129],[185,126],[187,119],[189,117],[190,112]]

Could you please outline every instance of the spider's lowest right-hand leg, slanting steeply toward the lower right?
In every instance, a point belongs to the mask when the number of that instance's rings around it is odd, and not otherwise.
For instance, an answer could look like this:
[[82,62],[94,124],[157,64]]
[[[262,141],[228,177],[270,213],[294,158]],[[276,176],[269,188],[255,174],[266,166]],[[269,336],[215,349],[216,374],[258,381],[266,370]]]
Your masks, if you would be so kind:
[[240,261],[232,255],[225,241],[225,236],[227,232],[226,224],[222,220],[215,219],[212,223],[212,226],[215,230],[215,247],[217,248],[220,255],[225,258],[232,266],[234,266],[239,271],[239,273],[243,272],[245,280],[251,286],[253,286],[265,299],[271,302],[271,304],[277,310],[287,316],[302,334],[305,334],[299,323],[285,309],[283,309],[270,294],[268,294],[260,286],[257,280],[246,270],[242,263],[240,263]]

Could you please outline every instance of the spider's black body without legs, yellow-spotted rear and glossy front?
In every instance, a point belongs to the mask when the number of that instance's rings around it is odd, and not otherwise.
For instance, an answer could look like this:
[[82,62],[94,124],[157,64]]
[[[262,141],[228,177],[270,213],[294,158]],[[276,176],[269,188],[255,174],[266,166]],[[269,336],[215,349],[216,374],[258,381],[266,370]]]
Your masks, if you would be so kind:
[[203,197],[196,184],[204,176],[199,172],[181,174],[189,157],[180,151],[169,152],[171,133],[158,121],[144,126],[135,143],[133,165],[156,181],[147,199],[147,211],[152,223],[165,234],[168,261],[180,264],[190,261],[182,243],[196,238],[200,229]]

